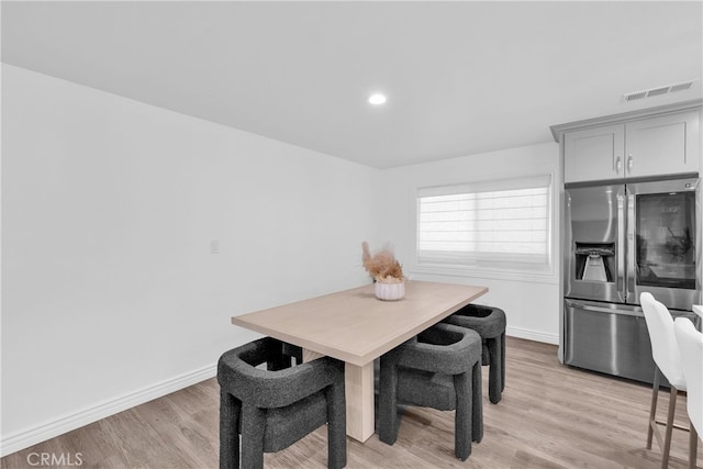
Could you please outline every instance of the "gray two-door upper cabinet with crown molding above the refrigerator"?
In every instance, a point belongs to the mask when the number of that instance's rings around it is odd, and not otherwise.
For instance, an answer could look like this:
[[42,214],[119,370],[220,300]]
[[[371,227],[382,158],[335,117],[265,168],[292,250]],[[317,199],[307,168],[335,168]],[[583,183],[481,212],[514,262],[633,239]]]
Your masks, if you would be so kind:
[[700,103],[680,111],[638,111],[551,130],[562,142],[563,182],[701,170]]

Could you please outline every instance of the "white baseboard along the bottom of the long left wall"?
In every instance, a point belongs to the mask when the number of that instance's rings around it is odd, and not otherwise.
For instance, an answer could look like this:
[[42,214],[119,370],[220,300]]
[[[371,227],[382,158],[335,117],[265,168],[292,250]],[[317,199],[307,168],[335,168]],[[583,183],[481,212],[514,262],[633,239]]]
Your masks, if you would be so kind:
[[100,404],[79,410],[78,412],[66,414],[34,427],[10,435],[2,435],[0,438],[0,457],[29,448],[37,443],[45,442],[156,398],[170,394],[171,392],[210,379],[216,375],[216,365],[209,365],[135,392],[130,392],[116,399],[111,399]]

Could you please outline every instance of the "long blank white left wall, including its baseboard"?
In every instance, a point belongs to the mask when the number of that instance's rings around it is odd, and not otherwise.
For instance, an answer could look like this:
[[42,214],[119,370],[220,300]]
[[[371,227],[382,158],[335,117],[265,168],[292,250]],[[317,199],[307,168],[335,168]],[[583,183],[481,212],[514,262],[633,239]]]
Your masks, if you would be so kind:
[[380,171],[2,74],[3,454],[214,376],[255,336],[232,315],[369,281]]

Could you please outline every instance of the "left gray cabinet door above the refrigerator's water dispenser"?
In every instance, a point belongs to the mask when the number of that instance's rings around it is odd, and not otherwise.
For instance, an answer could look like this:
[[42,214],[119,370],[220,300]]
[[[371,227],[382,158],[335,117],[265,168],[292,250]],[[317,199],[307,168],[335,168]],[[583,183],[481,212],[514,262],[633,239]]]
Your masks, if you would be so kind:
[[604,125],[563,136],[563,181],[622,178],[625,126]]

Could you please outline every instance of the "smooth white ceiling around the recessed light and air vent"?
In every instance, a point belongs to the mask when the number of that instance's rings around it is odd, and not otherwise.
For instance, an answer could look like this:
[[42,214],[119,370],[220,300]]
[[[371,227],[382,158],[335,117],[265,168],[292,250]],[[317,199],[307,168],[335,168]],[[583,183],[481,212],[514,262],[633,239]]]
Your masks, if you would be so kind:
[[[702,7],[3,1],[2,62],[389,168],[553,142],[554,124],[701,98]],[[373,91],[384,105],[367,102]]]

